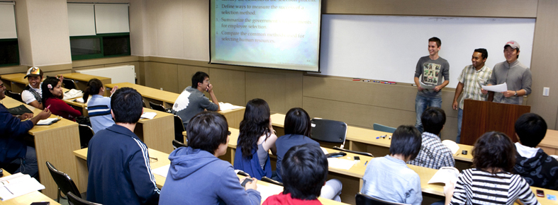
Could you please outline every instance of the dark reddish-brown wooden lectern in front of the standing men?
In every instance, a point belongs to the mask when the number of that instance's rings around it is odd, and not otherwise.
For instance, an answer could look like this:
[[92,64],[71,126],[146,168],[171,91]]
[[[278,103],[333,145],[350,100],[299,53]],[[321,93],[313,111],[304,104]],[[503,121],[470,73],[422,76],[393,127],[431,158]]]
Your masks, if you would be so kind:
[[531,107],[527,105],[465,99],[459,143],[472,146],[487,131],[501,131],[516,142],[515,120],[530,111]]

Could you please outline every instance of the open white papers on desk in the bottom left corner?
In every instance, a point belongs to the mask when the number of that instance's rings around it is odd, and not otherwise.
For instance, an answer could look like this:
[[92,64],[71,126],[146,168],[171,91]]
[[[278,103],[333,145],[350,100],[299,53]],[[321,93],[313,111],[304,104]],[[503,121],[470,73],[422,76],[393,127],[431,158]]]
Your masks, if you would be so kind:
[[0,178],[0,199],[6,201],[23,194],[29,194],[40,189],[45,189],[35,178],[29,175],[17,173],[15,175]]

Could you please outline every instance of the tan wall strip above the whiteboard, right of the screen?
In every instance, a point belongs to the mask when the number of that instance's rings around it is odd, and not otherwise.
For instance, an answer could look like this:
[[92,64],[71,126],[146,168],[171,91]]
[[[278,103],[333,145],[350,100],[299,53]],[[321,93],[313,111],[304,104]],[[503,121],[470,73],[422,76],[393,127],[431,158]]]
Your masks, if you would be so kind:
[[537,0],[323,0],[328,14],[372,14],[406,16],[537,16]]

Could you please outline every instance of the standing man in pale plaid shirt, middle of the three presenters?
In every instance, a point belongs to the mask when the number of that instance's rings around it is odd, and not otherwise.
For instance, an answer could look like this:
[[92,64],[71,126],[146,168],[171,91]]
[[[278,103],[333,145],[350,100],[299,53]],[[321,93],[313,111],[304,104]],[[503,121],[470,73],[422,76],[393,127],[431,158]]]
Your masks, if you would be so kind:
[[[484,48],[475,49],[473,52],[473,57],[471,61],[473,64],[469,66],[465,66],[459,78],[459,84],[457,84],[457,88],[455,89],[455,96],[453,98],[453,110],[458,110],[457,112],[457,139],[455,142],[459,143],[461,139],[461,124],[463,119],[463,102],[465,99],[472,99],[472,100],[483,100],[489,97],[489,95],[493,95],[494,93],[483,94],[481,92],[481,86],[486,86],[489,82],[490,76],[492,75],[492,69],[488,66],[485,66],[484,63],[486,59],[489,57],[489,52],[486,51]],[[457,106],[457,98],[459,95],[463,93],[463,97],[459,101],[459,107]]]

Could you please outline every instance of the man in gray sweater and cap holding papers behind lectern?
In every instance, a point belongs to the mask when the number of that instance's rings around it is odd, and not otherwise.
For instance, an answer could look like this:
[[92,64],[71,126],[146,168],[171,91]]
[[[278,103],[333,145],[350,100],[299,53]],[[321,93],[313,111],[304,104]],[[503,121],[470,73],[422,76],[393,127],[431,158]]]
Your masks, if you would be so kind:
[[[503,48],[506,61],[494,66],[488,85],[506,83],[508,90],[502,93],[494,93],[493,96],[489,95],[488,101],[521,105],[523,95],[531,93],[531,70],[518,61],[518,42],[510,40]],[[486,94],[488,91],[482,90],[482,93]]]

